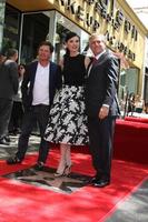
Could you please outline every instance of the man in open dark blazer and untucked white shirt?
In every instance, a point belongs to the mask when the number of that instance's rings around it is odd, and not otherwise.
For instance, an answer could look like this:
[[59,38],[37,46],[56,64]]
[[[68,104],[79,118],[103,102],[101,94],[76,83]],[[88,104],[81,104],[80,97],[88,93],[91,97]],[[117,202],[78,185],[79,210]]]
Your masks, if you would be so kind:
[[60,67],[50,61],[53,47],[50,42],[41,42],[38,50],[38,61],[31,62],[26,68],[22,81],[22,104],[24,117],[14,158],[7,160],[8,164],[21,163],[28,149],[28,141],[37,121],[40,129],[39,157],[37,170],[42,170],[46,163],[49,142],[45,140],[45,130],[48,122],[49,109],[52,104],[57,89],[61,87]]

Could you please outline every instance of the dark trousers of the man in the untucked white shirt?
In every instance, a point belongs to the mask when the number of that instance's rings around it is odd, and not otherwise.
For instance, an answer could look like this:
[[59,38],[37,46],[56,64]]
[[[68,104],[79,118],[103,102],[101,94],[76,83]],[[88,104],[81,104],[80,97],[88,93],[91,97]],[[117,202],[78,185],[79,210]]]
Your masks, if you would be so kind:
[[46,141],[43,137],[48,122],[48,117],[49,117],[49,105],[46,104],[32,105],[29,110],[24,111],[22,129],[19,138],[18,152],[17,152],[17,158],[19,160],[22,161],[24,159],[24,154],[28,149],[29,137],[32,132],[34,124],[38,123],[41,137],[38,162],[43,162],[43,163],[46,162],[49,151],[49,142]]

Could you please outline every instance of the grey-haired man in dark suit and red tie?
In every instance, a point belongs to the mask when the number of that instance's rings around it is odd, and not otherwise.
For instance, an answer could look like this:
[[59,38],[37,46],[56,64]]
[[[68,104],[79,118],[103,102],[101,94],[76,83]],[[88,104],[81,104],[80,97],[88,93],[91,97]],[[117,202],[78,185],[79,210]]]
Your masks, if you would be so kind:
[[89,46],[95,62],[88,69],[86,81],[86,107],[90,152],[96,176],[92,184],[98,188],[110,183],[112,138],[116,118],[119,114],[117,84],[119,63],[106,49],[105,36],[92,34]]

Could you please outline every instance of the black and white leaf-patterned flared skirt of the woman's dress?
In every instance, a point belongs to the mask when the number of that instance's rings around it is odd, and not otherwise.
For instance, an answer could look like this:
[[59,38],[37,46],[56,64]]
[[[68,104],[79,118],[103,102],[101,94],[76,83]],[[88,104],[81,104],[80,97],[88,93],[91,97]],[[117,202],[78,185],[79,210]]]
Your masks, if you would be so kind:
[[45,139],[53,143],[88,144],[83,87],[63,85],[50,109]]

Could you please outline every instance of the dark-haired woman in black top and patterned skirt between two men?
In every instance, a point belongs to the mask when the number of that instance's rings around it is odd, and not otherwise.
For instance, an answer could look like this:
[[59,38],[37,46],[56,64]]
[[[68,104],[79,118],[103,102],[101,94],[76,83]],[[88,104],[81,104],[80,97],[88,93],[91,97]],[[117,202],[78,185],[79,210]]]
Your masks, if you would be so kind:
[[46,140],[60,143],[60,161],[55,176],[70,173],[71,145],[88,144],[83,84],[90,59],[79,53],[80,38],[75,32],[66,37],[67,52],[60,61],[63,85],[57,92],[50,110]]

